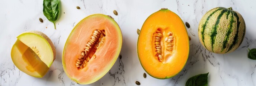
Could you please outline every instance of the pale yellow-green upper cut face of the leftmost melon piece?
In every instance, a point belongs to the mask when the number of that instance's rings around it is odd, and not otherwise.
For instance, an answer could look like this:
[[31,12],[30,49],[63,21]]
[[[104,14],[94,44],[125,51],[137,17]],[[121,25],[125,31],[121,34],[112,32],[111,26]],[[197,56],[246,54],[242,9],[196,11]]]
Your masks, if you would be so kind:
[[[23,33],[17,37],[22,43],[37,52],[38,57],[50,67],[55,59],[51,44],[41,35],[35,33]],[[35,46],[35,49],[33,47]],[[36,50],[37,49],[37,50]],[[54,49],[55,50],[55,49]]]

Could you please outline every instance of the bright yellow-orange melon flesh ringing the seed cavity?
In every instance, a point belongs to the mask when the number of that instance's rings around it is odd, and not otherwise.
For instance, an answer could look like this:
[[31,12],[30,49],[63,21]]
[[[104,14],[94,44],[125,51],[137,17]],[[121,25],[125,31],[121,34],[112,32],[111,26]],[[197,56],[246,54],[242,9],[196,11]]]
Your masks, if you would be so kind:
[[[153,33],[158,28],[174,34],[175,44],[172,56],[163,57],[160,62],[155,56]],[[144,22],[138,38],[137,52],[144,70],[152,77],[166,79],[175,76],[184,67],[189,55],[189,38],[178,15],[162,9],[150,15]]]

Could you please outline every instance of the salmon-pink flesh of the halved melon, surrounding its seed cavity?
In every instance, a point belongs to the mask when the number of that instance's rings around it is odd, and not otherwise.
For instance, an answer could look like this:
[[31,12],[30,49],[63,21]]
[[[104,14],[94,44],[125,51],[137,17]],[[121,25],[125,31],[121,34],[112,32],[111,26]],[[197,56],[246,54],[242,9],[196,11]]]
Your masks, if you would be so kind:
[[[85,68],[76,67],[76,59],[89,42],[94,30],[105,30],[106,40],[95,52]],[[114,65],[122,46],[122,34],[114,19],[103,14],[94,14],[81,20],[70,33],[62,54],[64,71],[72,81],[89,84],[103,77]]]

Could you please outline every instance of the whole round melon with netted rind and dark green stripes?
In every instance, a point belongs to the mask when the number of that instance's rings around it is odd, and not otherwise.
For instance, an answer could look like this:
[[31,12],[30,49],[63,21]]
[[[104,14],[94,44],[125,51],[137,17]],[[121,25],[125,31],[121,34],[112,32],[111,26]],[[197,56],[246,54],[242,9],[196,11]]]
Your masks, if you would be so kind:
[[198,37],[210,52],[229,53],[236,50],[246,32],[245,21],[241,14],[232,8],[218,7],[209,10],[201,19]]

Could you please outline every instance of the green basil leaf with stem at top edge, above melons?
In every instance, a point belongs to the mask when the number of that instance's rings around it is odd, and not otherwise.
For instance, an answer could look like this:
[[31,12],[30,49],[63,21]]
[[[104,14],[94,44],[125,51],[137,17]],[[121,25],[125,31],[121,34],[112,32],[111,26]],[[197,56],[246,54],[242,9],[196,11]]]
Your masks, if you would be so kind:
[[60,0],[43,0],[43,14],[50,22],[54,24],[55,29],[55,22],[60,13],[59,5]]

